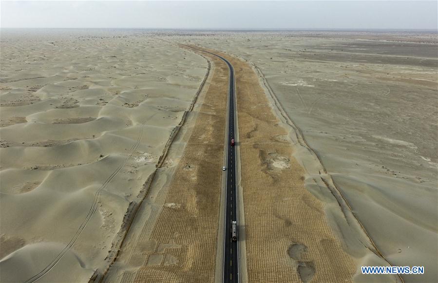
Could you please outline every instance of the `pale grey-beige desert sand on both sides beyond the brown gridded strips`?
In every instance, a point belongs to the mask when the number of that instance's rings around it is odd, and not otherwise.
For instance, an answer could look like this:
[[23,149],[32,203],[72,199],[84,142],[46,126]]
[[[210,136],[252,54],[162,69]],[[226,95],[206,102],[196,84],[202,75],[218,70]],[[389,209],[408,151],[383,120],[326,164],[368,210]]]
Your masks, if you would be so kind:
[[[1,280],[88,281],[114,256],[125,216],[144,194],[207,63],[138,32],[1,33]],[[171,39],[233,54],[259,71],[284,111],[278,117],[294,123],[286,128],[305,189],[324,203],[325,219],[356,268],[424,265],[424,275],[402,279],[437,282],[436,34]],[[265,157],[270,173],[290,169],[289,157]],[[342,198],[315,181],[323,178]],[[300,260],[303,250],[291,245],[283,256]],[[353,280],[398,278],[356,269]]]

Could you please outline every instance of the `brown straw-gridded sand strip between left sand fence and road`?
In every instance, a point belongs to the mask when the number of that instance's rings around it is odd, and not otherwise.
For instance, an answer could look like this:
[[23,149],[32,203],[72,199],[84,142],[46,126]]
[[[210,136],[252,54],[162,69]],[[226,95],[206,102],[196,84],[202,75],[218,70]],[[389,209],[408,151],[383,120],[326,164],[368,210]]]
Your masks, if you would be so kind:
[[203,56],[208,79],[103,282],[214,282],[228,67]]

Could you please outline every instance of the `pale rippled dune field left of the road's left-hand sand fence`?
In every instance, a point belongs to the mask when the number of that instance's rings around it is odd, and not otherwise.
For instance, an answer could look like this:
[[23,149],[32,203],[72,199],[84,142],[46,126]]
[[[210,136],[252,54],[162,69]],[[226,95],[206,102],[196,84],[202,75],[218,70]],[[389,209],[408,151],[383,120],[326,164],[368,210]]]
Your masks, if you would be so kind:
[[87,282],[207,72],[127,31],[1,31],[1,281]]

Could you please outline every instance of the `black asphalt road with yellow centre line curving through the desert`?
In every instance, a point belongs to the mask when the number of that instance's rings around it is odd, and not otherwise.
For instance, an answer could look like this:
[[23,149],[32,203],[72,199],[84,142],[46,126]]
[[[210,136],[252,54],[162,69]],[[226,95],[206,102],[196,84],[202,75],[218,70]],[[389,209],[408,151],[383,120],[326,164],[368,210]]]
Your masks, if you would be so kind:
[[[183,44],[185,45],[185,44]],[[209,53],[216,57],[219,57],[229,68],[229,105],[228,105],[228,141],[227,141],[227,192],[225,198],[225,229],[224,229],[224,275],[223,281],[227,282],[239,282],[239,234],[237,234],[237,241],[233,242],[231,239],[232,221],[237,221],[237,189],[236,189],[236,154],[235,147],[231,146],[231,139],[234,138],[234,143],[237,145],[238,140],[235,136],[235,108],[234,108],[234,68],[231,63],[214,53],[198,49],[189,45],[187,47]],[[237,223],[239,226],[239,223]],[[239,230],[239,229],[238,229]]]

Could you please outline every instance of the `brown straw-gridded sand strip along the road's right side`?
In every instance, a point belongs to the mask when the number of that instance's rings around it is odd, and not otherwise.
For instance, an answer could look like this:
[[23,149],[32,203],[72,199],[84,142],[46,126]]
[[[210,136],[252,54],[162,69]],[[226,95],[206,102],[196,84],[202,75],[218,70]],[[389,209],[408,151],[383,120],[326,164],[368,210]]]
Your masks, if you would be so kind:
[[[233,64],[245,219],[243,282],[348,282],[355,264],[331,231],[324,204],[305,189],[296,147],[248,62]],[[242,221],[240,220],[241,226]],[[242,249],[242,248],[241,248]],[[242,265],[241,266],[245,266]]]

